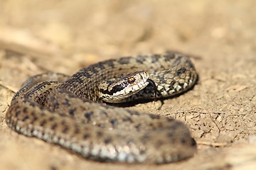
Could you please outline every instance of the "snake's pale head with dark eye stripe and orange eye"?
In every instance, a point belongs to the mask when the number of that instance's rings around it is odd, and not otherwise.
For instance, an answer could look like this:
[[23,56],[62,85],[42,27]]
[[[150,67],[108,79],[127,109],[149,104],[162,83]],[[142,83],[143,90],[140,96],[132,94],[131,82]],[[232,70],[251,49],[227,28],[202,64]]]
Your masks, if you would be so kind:
[[145,71],[134,72],[126,76],[103,81],[99,85],[99,97],[109,103],[121,103],[149,84],[149,73]]

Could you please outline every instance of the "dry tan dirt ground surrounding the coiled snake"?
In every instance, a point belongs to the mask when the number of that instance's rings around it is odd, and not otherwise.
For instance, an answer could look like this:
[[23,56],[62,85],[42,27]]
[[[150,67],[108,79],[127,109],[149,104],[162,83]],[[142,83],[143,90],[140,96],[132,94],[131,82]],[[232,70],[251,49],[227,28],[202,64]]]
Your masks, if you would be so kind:
[[[256,169],[256,1],[0,1],[0,169]],[[193,90],[133,106],[182,120],[197,154],[164,165],[92,162],[11,131],[23,81],[126,55],[193,55]],[[170,146],[171,147],[171,146]]]

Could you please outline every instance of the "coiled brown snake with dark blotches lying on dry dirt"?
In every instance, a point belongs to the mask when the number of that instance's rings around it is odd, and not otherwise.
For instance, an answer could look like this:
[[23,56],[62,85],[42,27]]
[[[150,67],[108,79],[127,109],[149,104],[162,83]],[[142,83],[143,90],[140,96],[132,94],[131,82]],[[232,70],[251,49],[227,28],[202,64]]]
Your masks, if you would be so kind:
[[119,105],[172,98],[197,79],[190,57],[179,52],[110,59],[73,76],[37,74],[14,95],[6,124],[97,162],[178,162],[197,150],[187,125]]

